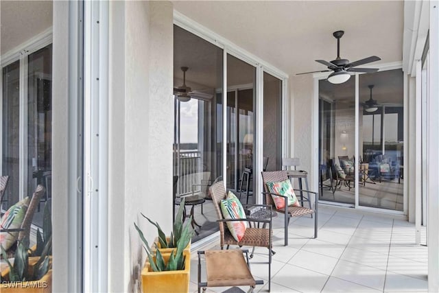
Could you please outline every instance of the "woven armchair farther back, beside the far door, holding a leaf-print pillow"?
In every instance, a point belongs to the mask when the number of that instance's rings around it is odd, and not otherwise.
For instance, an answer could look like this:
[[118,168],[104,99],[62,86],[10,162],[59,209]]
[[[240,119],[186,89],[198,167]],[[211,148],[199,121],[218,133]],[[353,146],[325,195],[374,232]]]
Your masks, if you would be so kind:
[[[287,172],[285,170],[273,171],[273,172],[262,172],[262,180],[263,180],[263,185],[264,185],[264,189],[265,189],[265,192],[263,192],[263,194],[265,194],[265,203],[270,204],[270,206],[272,206],[272,209],[274,209],[274,211],[278,211],[279,213],[284,214],[284,219],[285,219],[285,222],[284,222],[285,242],[284,242],[284,244],[285,244],[285,246],[288,245],[288,224],[289,224],[289,219],[292,217],[300,217],[302,215],[311,215],[314,213],[315,214],[315,216],[314,216],[314,238],[317,238],[318,193],[312,192],[312,191],[307,191],[307,190],[302,190],[304,192],[309,192],[309,194],[314,194],[314,198],[315,198],[314,209],[309,209],[307,207],[289,207],[289,206],[287,206],[287,204],[285,204],[284,209],[276,209],[276,206],[274,205],[274,202],[272,199],[272,195],[275,195],[275,196],[281,196],[281,195],[270,193],[270,190],[268,189],[267,183],[288,180]],[[294,189],[294,191],[300,191],[300,189]],[[285,198],[285,200],[287,200],[286,196],[282,196],[282,197]]]

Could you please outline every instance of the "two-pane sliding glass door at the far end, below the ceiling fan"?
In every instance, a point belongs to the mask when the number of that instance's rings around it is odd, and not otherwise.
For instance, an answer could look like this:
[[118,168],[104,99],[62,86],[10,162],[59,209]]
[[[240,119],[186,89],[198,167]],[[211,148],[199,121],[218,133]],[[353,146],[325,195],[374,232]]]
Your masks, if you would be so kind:
[[320,80],[320,200],[403,211],[403,121],[401,69]]

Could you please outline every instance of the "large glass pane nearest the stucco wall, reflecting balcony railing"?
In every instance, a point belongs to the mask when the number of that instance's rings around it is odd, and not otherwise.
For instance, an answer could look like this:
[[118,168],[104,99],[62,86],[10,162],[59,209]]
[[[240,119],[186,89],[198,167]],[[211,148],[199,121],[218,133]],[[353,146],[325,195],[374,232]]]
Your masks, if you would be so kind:
[[174,213],[184,197],[192,242],[219,229],[208,191],[222,179],[222,54],[174,25]]

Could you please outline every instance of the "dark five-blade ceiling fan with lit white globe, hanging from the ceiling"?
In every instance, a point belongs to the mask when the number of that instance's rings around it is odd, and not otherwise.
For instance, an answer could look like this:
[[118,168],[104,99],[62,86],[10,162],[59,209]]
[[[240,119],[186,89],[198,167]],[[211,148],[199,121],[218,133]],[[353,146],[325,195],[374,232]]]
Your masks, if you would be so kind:
[[335,58],[335,60],[332,60],[331,62],[325,60],[316,60],[316,62],[319,62],[322,65],[326,65],[329,70],[304,72],[304,73],[298,73],[297,75],[333,71],[333,73],[329,75],[328,81],[331,82],[332,84],[342,84],[343,82],[346,82],[349,78],[351,78],[351,74],[350,74],[351,72],[364,72],[364,73],[377,72],[378,69],[376,68],[355,68],[359,65],[364,65],[370,62],[381,60],[381,58],[377,56],[370,56],[368,58],[360,59],[354,62],[349,62],[349,60],[347,59],[340,58],[340,38],[342,38],[343,34],[344,31],[342,30],[333,32],[333,36],[337,39],[337,58]]

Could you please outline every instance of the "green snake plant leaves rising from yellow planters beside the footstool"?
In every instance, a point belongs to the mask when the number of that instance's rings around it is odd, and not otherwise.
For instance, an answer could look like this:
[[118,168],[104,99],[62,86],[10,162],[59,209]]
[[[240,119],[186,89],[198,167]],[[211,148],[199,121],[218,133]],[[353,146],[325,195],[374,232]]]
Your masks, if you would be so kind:
[[154,255],[150,248],[150,244],[148,244],[143,235],[143,232],[134,222],[134,227],[139,233],[139,236],[144,244],[143,248],[145,248],[150,266],[154,272],[161,272],[165,270],[183,270],[185,268],[185,255],[183,255],[183,250],[186,248],[189,242],[191,242],[193,228],[190,224],[192,220],[191,218],[189,218],[188,222],[183,223],[183,209],[185,209],[184,199],[180,203],[180,208],[178,209],[169,241],[167,241],[165,233],[163,233],[160,225],[157,222],[152,222],[150,218],[147,218],[145,215],[143,215],[143,213],[141,213],[144,218],[156,226],[158,231],[158,242],[160,243],[161,248],[175,248],[169,255],[167,263],[165,262],[165,259],[163,258],[163,255],[159,249],[156,250]]

